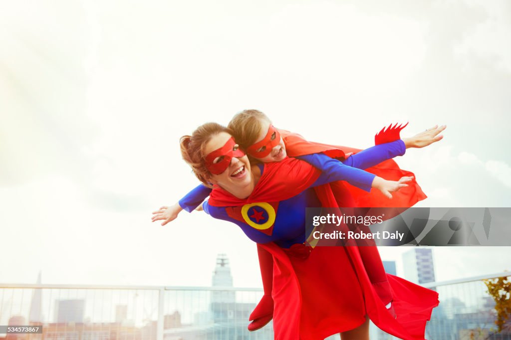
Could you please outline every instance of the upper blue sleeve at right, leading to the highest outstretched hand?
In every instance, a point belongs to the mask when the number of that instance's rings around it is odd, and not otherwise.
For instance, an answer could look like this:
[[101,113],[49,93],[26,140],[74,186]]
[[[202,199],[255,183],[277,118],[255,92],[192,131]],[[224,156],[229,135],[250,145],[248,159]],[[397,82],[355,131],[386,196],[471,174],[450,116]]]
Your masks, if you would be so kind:
[[362,150],[355,155],[351,155],[342,163],[359,169],[366,169],[387,159],[403,156],[405,151],[405,142],[398,139],[390,143],[379,144]]

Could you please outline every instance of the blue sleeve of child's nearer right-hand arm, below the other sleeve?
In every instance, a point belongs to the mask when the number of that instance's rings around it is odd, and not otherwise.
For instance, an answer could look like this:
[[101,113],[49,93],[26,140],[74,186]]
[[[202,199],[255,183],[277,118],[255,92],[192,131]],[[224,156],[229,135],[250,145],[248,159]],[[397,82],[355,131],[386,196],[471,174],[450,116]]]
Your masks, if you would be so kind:
[[376,175],[356,167],[343,164],[341,161],[330,158],[325,154],[313,154],[296,157],[321,170],[321,175],[312,184],[318,186],[335,181],[346,181],[365,191],[371,191],[371,184]]

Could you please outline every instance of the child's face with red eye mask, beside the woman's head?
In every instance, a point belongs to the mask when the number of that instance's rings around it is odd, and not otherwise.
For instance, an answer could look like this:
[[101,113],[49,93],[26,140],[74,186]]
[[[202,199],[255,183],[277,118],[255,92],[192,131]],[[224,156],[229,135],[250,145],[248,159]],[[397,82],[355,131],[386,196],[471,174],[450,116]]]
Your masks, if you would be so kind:
[[[278,141],[275,140],[276,138],[278,138]],[[258,143],[259,145],[257,145]],[[257,147],[257,149],[252,147]],[[287,156],[284,140],[278,134],[278,131],[266,120],[261,120],[261,131],[259,132],[258,139],[247,151],[253,158],[263,163],[280,162]]]

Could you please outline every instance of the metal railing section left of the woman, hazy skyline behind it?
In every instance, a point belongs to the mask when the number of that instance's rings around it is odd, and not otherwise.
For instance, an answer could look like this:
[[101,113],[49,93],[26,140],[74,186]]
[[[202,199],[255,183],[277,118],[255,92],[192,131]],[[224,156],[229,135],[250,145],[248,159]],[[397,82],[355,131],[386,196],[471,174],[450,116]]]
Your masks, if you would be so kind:
[[76,332],[79,340],[102,340],[103,333],[135,340],[193,338],[193,332],[231,338],[248,333],[248,315],[262,294],[235,287],[0,284],[0,325],[42,324],[65,340]]

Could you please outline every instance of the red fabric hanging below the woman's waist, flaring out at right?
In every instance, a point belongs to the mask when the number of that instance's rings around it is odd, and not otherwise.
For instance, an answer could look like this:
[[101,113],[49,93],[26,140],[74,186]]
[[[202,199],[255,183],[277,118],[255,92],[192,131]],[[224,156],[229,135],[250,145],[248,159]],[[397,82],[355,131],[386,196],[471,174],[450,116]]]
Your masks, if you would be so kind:
[[[380,329],[406,340],[424,339],[438,293],[387,274],[394,319],[371,285],[357,247],[261,245],[273,255],[273,328],[276,340],[322,340],[354,329],[365,315]],[[301,249],[300,249],[301,248]]]

